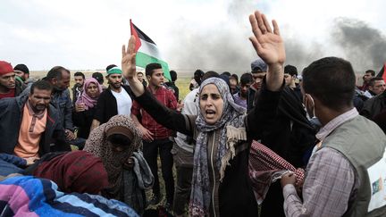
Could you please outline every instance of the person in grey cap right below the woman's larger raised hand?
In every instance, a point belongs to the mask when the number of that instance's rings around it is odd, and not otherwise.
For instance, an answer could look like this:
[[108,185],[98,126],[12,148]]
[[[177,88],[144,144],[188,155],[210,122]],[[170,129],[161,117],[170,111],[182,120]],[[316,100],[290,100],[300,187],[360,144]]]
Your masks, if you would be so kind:
[[267,65],[262,59],[257,59],[251,63],[251,73],[253,77],[253,83],[248,89],[247,96],[247,110],[250,111],[255,107],[257,93],[262,86],[262,81],[267,71]]

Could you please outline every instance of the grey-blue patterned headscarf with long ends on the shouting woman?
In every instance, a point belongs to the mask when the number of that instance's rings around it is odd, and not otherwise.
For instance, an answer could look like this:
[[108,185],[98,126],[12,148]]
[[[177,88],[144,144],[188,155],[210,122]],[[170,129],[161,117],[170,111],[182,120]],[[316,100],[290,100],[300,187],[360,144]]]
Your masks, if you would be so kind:
[[220,172],[221,181],[228,162],[235,155],[234,145],[235,142],[237,142],[237,139],[227,136],[230,133],[227,131],[245,128],[244,117],[246,110],[234,103],[231,91],[226,82],[218,78],[206,79],[201,84],[199,93],[201,94],[203,88],[209,84],[215,85],[219,90],[223,100],[223,110],[220,120],[212,125],[206,123],[202,112],[199,113],[196,120],[198,135],[193,160],[192,193],[189,204],[190,215],[192,216],[209,215],[211,196],[209,192],[210,179],[207,164],[208,153],[206,151],[208,134],[216,129],[220,129],[220,139],[216,144],[218,151],[215,154],[215,168]]

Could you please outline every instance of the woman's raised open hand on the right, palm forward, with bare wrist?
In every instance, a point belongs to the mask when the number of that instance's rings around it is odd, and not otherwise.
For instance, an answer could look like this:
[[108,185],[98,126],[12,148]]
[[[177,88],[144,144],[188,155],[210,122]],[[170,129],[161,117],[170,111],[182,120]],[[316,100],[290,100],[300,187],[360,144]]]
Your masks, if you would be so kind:
[[249,15],[249,21],[254,33],[254,37],[249,40],[255,47],[256,53],[268,65],[267,88],[273,91],[279,90],[283,80],[283,64],[286,59],[279,26],[276,21],[273,21],[272,29],[265,15],[258,11]]

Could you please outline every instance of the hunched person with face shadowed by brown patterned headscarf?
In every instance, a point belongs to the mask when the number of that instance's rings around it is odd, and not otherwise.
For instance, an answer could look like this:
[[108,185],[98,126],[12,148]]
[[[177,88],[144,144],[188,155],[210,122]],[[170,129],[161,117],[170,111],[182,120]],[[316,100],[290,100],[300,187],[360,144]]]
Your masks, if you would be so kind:
[[102,196],[129,204],[138,213],[146,205],[144,189],[154,182],[142,153],[140,135],[134,122],[127,115],[116,115],[91,131],[85,151],[100,157],[105,165],[110,185]]

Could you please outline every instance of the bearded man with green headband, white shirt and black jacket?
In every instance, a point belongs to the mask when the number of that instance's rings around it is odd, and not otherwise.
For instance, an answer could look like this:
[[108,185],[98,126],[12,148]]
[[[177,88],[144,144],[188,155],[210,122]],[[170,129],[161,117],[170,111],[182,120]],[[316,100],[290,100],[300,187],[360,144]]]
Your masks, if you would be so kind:
[[109,121],[114,115],[131,114],[131,89],[129,86],[122,85],[122,70],[113,66],[107,70],[105,78],[108,80],[109,87],[98,98],[91,130]]

